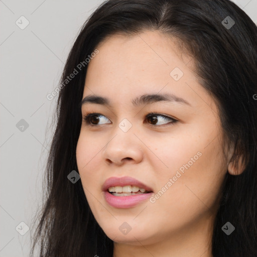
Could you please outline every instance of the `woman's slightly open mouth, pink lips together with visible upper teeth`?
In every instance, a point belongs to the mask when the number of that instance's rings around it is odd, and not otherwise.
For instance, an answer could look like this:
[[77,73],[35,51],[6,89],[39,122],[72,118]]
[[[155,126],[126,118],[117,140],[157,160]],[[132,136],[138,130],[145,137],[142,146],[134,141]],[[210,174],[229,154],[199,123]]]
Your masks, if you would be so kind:
[[103,186],[105,201],[115,208],[130,208],[151,197],[152,188],[131,177],[111,177]]

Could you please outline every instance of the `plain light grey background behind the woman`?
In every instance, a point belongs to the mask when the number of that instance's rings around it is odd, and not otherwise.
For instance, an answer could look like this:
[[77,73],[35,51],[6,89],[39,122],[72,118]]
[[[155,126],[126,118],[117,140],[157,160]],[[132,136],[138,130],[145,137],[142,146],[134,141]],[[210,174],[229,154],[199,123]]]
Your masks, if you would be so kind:
[[[234,2],[257,24],[257,0]],[[29,256],[57,100],[47,94],[58,86],[79,29],[100,3],[0,0],[0,257]]]

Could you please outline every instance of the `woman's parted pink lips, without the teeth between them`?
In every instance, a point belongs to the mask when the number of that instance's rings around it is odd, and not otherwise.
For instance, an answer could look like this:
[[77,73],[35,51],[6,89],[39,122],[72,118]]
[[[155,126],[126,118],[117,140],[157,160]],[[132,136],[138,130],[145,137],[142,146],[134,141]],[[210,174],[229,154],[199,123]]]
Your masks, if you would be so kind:
[[[150,193],[145,194],[137,194],[137,195],[131,195],[131,196],[114,196],[108,192],[108,188],[112,186],[126,186],[126,185],[133,185],[138,186],[140,188],[145,188],[147,191],[150,191]],[[102,190],[104,191],[104,198],[105,201],[116,208],[130,208],[133,207],[140,202],[150,198],[153,195],[153,190],[149,186],[143,184],[142,182],[131,178],[131,177],[111,177],[108,178],[103,186]]]

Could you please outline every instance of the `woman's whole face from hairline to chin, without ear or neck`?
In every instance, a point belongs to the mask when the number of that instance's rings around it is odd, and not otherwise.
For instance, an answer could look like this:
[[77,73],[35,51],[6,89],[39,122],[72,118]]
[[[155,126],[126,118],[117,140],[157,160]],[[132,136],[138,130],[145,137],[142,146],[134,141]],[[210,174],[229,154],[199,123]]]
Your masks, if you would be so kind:
[[76,150],[96,221],[134,245],[211,229],[227,165],[217,106],[194,61],[156,31],[115,35],[97,49],[83,99],[107,101],[84,101],[82,116],[97,114],[83,119]]

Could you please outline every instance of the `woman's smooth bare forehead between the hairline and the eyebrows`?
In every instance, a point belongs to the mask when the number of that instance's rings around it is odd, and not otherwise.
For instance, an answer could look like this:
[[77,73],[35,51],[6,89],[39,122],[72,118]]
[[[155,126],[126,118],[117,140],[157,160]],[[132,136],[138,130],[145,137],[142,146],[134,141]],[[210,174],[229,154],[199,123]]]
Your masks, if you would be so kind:
[[192,71],[192,58],[158,31],[113,35],[96,49],[99,53],[88,64],[83,98],[97,94],[134,99],[158,92],[186,98],[192,94],[189,85],[200,87]]

